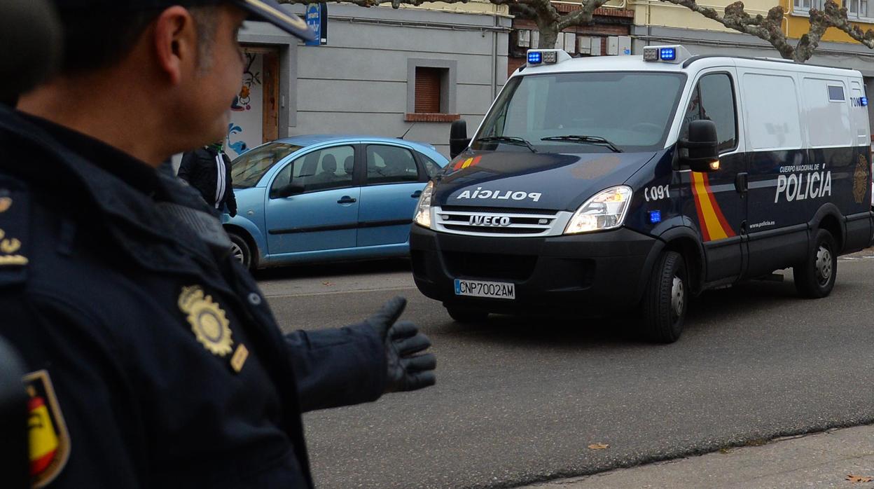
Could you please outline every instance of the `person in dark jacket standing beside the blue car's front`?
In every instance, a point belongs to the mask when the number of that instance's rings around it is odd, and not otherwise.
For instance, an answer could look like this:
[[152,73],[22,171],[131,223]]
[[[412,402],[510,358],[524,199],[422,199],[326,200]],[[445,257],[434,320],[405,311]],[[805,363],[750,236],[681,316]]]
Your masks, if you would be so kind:
[[197,189],[209,206],[220,213],[227,209],[237,215],[237,199],[233,195],[231,159],[222,150],[222,143],[212,143],[182,155],[177,177]]

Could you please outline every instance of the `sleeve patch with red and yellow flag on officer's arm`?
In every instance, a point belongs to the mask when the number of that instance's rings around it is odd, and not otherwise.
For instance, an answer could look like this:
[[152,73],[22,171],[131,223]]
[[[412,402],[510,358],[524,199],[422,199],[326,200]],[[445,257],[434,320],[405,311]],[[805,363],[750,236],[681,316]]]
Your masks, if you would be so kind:
[[70,436],[47,370],[24,375],[30,396],[27,430],[30,441],[31,486],[45,487],[64,469],[70,457]]

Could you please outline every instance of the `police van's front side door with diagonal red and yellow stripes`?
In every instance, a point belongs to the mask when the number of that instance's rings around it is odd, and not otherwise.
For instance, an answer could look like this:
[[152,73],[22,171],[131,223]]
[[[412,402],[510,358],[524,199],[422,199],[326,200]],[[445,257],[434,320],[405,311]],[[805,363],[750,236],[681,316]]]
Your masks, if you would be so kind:
[[731,279],[742,272],[740,234],[746,220],[746,202],[736,185],[739,175],[746,171],[746,157],[739,150],[736,92],[734,68],[700,73],[680,129],[680,139],[685,139],[692,121],[710,120],[717,126],[719,170],[700,173],[681,169],[685,173],[683,184],[690,185],[692,194],[684,213],[698,223],[707,260],[707,282]]

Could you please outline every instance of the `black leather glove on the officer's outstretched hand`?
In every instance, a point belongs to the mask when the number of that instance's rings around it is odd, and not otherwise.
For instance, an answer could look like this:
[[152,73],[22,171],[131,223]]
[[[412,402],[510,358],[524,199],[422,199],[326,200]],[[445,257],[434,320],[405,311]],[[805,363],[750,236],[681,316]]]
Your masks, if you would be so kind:
[[427,388],[436,381],[434,367],[437,367],[437,359],[434,353],[416,354],[427,350],[431,346],[431,340],[420,333],[413,323],[395,322],[405,306],[404,297],[394,297],[383,305],[382,310],[365,320],[376,330],[385,345],[385,360],[388,364],[385,392]]

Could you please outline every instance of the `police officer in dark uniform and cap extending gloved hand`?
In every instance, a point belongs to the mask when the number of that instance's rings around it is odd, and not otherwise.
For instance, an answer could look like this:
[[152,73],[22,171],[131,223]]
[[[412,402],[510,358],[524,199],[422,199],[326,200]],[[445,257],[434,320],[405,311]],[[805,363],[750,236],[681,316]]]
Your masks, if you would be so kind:
[[28,366],[49,487],[313,486],[301,413],[434,384],[395,298],[283,334],[190,187],[156,168],[220,139],[247,17],[273,0],[53,0],[58,76],[0,108],[0,336]]

